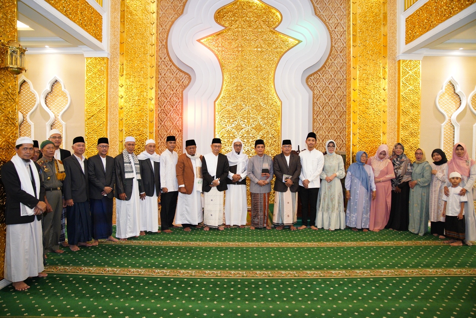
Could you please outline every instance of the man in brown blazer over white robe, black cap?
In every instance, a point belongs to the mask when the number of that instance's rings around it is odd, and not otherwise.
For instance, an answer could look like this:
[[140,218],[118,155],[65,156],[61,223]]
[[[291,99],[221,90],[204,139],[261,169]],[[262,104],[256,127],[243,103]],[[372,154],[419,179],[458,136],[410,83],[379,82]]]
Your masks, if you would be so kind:
[[201,228],[202,212],[202,158],[197,152],[195,140],[185,142],[187,153],[178,156],[176,173],[178,181],[177,214],[175,222],[182,224],[185,231],[192,227]]

